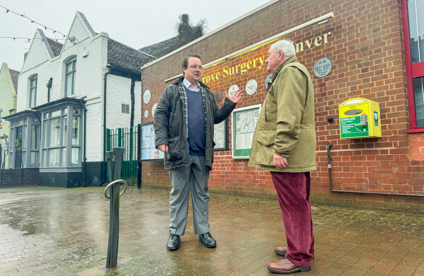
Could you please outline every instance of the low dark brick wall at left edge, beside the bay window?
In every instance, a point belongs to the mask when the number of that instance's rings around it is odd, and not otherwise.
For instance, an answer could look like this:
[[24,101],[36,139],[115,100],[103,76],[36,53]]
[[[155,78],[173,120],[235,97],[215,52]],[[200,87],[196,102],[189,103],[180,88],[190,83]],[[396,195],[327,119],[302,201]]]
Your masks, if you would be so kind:
[[[3,178],[1,178],[3,175]],[[0,170],[1,187],[40,185],[38,168]]]

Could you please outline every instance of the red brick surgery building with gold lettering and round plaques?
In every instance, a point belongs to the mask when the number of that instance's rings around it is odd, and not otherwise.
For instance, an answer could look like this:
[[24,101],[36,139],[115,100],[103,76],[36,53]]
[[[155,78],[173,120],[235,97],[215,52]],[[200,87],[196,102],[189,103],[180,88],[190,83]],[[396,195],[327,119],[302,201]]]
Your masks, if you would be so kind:
[[[334,17],[328,21],[286,36],[294,41],[296,56],[308,68],[314,83],[318,170],[311,173],[312,201],[373,210],[424,212],[424,198],[419,197],[424,195],[421,80],[424,65],[420,63],[421,55],[424,61],[424,51],[420,50],[424,37],[417,35],[422,33],[416,24],[420,8],[415,6],[416,13],[413,5],[415,0],[408,3],[407,0],[305,0],[300,4],[295,0],[272,1],[145,65],[142,94],[149,89],[151,100],[142,103],[142,112],[149,110],[149,116],[143,116],[143,123],[153,121],[152,106],[170,84],[164,80],[182,73],[182,59],[187,54],[200,55],[206,64],[333,12]],[[266,96],[265,78],[269,75],[265,64],[269,44],[206,68],[204,83],[213,92],[217,89],[228,92],[233,84],[245,90],[247,81],[255,79],[256,93],[244,94],[237,107],[262,104]],[[313,66],[320,58],[332,62],[331,72],[323,78],[313,73]],[[339,104],[356,97],[380,104],[381,138],[340,139]],[[330,118],[334,122],[329,123]],[[248,160],[231,158],[231,123],[229,119],[229,149],[215,152],[210,190],[275,199],[269,172],[247,167]],[[334,145],[331,150],[334,190],[388,195],[329,191],[327,143]],[[169,187],[163,163],[143,162],[142,183]]]

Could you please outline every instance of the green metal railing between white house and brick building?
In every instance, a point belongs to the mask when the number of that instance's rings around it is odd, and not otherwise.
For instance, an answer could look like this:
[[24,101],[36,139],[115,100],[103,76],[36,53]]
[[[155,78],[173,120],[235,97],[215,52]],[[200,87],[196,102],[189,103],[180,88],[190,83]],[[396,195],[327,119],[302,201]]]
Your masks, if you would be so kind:
[[[117,128],[106,129],[106,151],[111,151],[113,147],[123,147],[124,159],[122,162],[121,179],[126,181],[136,181],[138,174],[137,148],[138,148],[138,128]],[[106,182],[109,182],[109,173],[106,164]]]

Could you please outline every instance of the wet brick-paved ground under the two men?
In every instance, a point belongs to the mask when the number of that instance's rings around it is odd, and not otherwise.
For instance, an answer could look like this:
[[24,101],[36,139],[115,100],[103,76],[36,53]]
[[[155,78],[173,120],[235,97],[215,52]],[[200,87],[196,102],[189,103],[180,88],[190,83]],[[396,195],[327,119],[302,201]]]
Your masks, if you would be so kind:
[[[276,201],[211,195],[216,248],[193,234],[168,251],[169,191],[130,188],[121,197],[118,262],[105,274],[109,202],[104,188],[0,189],[0,275],[271,275],[285,245]],[[424,275],[421,215],[313,206],[315,260],[296,275]]]

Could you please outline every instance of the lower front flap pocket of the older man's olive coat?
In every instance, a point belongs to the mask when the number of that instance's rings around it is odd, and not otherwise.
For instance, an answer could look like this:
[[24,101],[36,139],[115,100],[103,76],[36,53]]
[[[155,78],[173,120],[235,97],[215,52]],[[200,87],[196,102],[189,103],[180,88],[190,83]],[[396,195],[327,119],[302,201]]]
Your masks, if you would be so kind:
[[275,130],[259,130],[257,133],[256,163],[274,166]]

